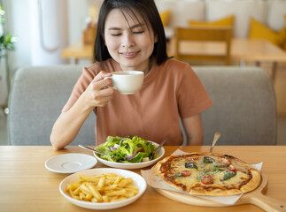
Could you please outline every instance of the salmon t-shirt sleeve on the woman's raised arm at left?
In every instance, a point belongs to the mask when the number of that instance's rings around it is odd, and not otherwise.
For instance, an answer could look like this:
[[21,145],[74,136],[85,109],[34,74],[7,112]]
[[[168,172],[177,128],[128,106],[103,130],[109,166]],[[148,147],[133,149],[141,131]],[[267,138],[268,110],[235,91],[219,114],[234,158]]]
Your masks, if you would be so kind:
[[62,109],[62,112],[70,110],[73,104],[80,98],[81,94],[89,87],[90,82],[96,76],[95,72],[92,72],[89,68],[84,67],[80,78],[77,80],[73,87],[72,94],[70,95],[66,105]]

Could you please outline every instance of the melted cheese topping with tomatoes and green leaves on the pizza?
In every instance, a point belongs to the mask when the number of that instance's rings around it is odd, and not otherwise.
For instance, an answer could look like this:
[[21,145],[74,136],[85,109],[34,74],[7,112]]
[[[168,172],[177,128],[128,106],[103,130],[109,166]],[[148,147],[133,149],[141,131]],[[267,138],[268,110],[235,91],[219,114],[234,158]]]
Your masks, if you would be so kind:
[[171,157],[165,168],[166,180],[185,191],[240,189],[252,178],[242,163],[210,155]]

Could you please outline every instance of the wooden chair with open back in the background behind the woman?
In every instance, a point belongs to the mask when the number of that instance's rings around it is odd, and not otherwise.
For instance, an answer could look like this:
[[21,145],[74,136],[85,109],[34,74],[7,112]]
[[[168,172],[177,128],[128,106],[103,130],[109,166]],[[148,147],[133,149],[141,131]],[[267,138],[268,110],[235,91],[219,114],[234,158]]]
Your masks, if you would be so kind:
[[176,28],[175,57],[179,60],[223,60],[230,64],[232,27]]

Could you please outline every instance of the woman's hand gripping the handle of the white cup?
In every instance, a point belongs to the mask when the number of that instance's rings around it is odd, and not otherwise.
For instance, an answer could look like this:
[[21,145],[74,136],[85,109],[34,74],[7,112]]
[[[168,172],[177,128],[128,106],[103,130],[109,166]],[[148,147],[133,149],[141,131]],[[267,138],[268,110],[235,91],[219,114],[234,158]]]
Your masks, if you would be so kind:
[[111,77],[112,73],[101,71],[90,82],[89,87],[82,94],[89,107],[104,107],[113,97],[112,79],[104,79]]

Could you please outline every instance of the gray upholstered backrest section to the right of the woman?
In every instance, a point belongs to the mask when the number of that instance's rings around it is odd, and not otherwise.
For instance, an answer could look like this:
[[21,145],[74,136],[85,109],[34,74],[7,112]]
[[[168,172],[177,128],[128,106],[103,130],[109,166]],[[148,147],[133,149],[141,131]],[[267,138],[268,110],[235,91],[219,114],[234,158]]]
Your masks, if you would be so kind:
[[259,67],[193,67],[213,100],[202,114],[205,145],[275,145],[276,99],[269,74]]

